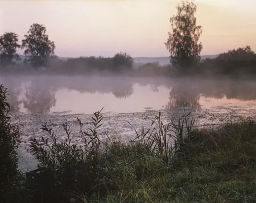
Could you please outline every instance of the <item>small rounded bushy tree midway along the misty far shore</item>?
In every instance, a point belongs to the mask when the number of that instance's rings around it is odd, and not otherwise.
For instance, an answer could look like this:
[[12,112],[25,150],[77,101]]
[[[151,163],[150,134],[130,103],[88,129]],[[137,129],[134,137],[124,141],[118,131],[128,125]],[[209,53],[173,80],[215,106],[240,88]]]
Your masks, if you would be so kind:
[[115,54],[115,56],[112,58],[112,61],[113,68],[115,70],[121,70],[121,67],[131,69],[134,64],[133,58],[129,54],[122,52]]

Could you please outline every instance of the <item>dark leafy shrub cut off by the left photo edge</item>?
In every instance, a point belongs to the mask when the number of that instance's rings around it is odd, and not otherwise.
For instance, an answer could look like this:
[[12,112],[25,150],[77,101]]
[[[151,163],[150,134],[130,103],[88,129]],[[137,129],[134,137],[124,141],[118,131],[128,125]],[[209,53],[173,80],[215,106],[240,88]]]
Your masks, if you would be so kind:
[[10,124],[10,105],[6,102],[7,90],[0,85],[0,197],[1,202],[10,200],[17,183],[19,129]]

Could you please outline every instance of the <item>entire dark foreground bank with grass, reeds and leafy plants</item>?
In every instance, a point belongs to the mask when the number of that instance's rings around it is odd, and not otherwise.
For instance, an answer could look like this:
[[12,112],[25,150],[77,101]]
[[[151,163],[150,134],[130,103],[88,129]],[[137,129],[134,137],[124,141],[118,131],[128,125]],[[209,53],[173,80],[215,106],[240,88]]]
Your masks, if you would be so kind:
[[[94,113],[82,145],[46,136],[31,140],[39,161],[10,202],[255,202],[256,122],[245,120],[217,128],[192,128],[188,117],[135,132],[130,143],[97,133],[103,115]],[[172,145],[170,145],[172,143]],[[11,197],[13,198],[11,200]]]

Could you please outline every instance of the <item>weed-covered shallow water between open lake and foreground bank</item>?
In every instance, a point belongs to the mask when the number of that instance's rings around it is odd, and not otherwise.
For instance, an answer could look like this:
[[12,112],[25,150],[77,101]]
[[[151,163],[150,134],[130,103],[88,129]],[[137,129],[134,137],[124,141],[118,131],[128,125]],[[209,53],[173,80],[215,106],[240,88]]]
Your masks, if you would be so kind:
[[[171,118],[175,121],[182,116],[187,115],[191,109],[177,110],[172,112],[163,112],[162,119],[164,122],[170,122]],[[117,137],[122,142],[129,142],[135,137],[135,129],[141,130],[143,124],[145,129],[150,128],[151,120],[157,116],[159,111],[147,110],[144,112],[134,113],[113,113],[103,112],[102,127],[99,129],[100,138],[106,139],[106,134],[110,137]],[[193,111],[191,117],[196,119],[195,127],[214,125],[222,125],[226,123],[238,122],[242,119],[256,118],[256,113],[251,109],[243,109],[242,107],[225,107],[219,106],[212,109],[201,109],[200,111]],[[19,154],[19,168],[27,172],[36,167],[36,160],[29,152],[29,143],[31,138],[39,138],[45,133],[40,129],[42,124],[47,123],[50,128],[56,133],[57,139],[64,138],[64,131],[62,124],[67,122],[71,126],[73,140],[77,143],[81,142],[79,139],[79,124],[77,117],[84,123],[84,130],[90,126],[92,114],[72,114],[72,112],[54,112],[48,114],[27,114],[27,113],[12,113],[12,122],[20,128],[20,146]],[[133,126],[131,126],[133,125]]]

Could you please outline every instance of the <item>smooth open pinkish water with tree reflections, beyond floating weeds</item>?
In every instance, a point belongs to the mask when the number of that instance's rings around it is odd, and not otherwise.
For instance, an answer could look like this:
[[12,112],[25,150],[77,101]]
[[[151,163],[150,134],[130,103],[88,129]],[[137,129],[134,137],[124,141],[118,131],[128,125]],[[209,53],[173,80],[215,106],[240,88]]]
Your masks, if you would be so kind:
[[148,107],[200,110],[202,98],[208,98],[209,103],[210,98],[256,100],[256,82],[253,81],[55,75],[8,76],[0,78],[0,83],[9,88],[8,102],[16,111],[27,113],[73,111],[75,108],[77,113],[79,110],[85,113],[81,106],[90,108],[91,113],[96,110],[92,108],[106,105],[108,111],[117,112],[144,111]]

